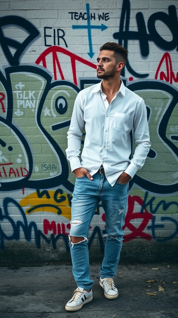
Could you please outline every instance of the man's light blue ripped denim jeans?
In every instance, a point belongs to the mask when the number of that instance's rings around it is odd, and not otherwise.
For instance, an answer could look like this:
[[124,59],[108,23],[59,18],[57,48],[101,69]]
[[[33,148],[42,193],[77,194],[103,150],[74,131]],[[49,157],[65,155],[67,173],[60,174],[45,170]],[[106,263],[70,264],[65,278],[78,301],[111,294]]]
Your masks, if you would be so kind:
[[[106,218],[105,256],[100,268],[101,278],[116,274],[123,241],[124,219],[128,198],[128,183],[116,182],[112,187],[104,174],[96,173],[93,180],[87,176],[76,178],[72,199],[71,236],[82,237],[83,240],[73,244],[70,241],[70,252],[73,263],[73,276],[77,287],[90,289],[88,233],[90,223],[99,202],[102,202]],[[114,236],[115,238],[112,238]]]

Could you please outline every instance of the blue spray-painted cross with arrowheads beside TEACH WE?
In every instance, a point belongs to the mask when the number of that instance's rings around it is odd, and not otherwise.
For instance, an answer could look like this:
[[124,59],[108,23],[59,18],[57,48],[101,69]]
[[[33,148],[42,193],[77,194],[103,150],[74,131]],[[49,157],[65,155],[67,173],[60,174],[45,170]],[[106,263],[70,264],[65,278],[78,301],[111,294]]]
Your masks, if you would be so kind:
[[104,31],[108,27],[104,24],[101,25],[91,25],[90,24],[90,4],[86,3],[86,14],[87,14],[87,25],[72,25],[73,29],[87,29],[88,30],[88,42],[89,42],[89,51],[87,54],[92,59],[93,55],[95,54],[93,52],[92,48],[92,29],[101,29],[101,31]]

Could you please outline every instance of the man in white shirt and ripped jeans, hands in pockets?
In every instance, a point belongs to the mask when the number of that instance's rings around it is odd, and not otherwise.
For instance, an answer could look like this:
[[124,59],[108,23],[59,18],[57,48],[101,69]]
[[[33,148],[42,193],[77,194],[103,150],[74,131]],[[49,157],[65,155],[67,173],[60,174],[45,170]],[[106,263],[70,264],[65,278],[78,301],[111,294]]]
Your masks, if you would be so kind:
[[[105,210],[106,243],[99,284],[106,298],[118,297],[113,277],[122,248],[128,182],[143,166],[151,145],[144,101],[120,79],[127,54],[121,45],[105,43],[97,59],[97,77],[102,81],[79,92],[73,108],[66,153],[76,176],[69,240],[77,289],[66,304],[68,311],[92,301],[87,237],[100,201]],[[130,160],[132,129],[137,147]]]

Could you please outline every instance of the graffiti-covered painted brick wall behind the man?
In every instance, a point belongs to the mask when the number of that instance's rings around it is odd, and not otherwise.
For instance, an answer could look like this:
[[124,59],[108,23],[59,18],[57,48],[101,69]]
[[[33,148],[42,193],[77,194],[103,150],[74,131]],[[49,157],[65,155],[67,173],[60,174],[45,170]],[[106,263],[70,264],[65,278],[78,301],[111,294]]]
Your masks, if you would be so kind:
[[[177,258],[177,13],[175,0],[104,0],[102,9],[96,0],[1,1],[2,264],[70,259],[67,130],[77,94],[99,81],[99,48],[108,41],[129,51],[122,79],[145,100],[152,142],[130,181],[121,257]],[[105,232],[100,203],[90,227],[93,260],[103,255]]]

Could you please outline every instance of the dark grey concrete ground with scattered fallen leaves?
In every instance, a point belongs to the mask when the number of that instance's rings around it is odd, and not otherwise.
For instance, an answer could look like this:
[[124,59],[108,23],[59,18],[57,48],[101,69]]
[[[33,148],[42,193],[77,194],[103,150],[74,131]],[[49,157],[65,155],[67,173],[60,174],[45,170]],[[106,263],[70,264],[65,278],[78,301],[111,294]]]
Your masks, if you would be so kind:
[[119,265],[119,296],[108,300],[99,286],[99,264],[91,264],[93,300],[67,312],[76,287],[71,265],[0,267],[1,318],[178,318],[178,265]]

